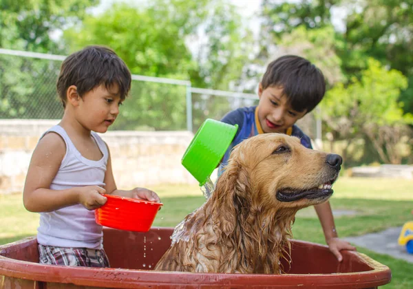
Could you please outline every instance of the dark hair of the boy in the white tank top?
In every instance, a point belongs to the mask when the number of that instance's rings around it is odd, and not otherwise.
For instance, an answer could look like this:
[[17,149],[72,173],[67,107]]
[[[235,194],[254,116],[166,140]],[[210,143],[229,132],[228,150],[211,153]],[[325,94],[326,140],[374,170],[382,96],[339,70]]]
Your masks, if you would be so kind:
[[65,58],[57,80],[57,93],[66,107],[66,92],[76,85],[82,97],[86,92],[104,84],[107,89],[117,84],[120,99],[125,100],[131,89],[131,73],[123,60],[110,48],[87,46]]

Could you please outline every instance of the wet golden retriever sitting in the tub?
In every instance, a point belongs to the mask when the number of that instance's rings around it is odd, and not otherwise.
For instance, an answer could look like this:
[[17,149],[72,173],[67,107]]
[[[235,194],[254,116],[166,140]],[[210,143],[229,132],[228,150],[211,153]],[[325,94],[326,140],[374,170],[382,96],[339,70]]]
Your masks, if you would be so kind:
[[295,213],[328,200],[341,162],[284,134],[244,140],[209,200],[175,228],[155,270],[282,273]]

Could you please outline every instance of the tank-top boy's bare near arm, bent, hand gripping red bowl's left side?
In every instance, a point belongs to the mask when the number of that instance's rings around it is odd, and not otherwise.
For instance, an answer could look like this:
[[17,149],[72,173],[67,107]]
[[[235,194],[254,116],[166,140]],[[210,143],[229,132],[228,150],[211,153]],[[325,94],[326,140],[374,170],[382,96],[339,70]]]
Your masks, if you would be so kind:
[[100,195],[104,190],[99,186],[49,189],[65,153],[65,142],[56,133],[47,133],[37,144],[23,189],[23,204],[28,211],[50,212],[79,203],[92,209],[105,204],[106,198]]

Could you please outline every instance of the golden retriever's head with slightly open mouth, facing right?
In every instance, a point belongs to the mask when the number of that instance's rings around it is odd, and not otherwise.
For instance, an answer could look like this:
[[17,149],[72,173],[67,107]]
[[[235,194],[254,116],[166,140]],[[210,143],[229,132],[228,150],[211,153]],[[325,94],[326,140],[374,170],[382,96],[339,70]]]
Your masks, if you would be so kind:
[[338,155],[306,149],[298,138],[265,133],[233,149],[217,189],[233,180],[237,197],[249,199],[250,206],[304,208],[328,200],[341,162]]

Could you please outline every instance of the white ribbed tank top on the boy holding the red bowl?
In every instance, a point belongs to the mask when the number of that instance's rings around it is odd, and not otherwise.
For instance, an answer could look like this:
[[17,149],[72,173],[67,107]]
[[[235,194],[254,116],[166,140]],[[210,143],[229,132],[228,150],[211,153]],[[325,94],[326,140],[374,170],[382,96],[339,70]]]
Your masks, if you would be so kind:
[[[70,189],[74,186],[105,186],[108,151],[105,142],[92,131],[92,137],[103,158],[88,160],[74,147],[65,129],[59,125],[48,129],[65,140],[66,154],[56,176],[50,184],[52,190]],[[41,136],[41,138],[43,138]],[[59,193],[56,191],[54,193]],[[96,224],[94,211],[88,211],[81,204],[67,206],[49,213],[40,213],[40,226],[37,229],[37,242],[45,246],[101,249],[102,226]]]

